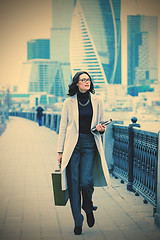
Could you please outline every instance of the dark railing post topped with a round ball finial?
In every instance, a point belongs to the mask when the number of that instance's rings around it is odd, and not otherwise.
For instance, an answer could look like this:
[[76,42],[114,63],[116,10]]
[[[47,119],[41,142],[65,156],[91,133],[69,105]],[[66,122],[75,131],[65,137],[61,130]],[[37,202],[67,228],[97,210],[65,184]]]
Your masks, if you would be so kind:
[[128,145],[128,184],[127,190],[133,191],[133,162],[134,162],[134,133],[133,127],[140,127],[140,124],[137,124],[137,118],[133,117],[131,119],[132,123],[129,124],[129,145]]

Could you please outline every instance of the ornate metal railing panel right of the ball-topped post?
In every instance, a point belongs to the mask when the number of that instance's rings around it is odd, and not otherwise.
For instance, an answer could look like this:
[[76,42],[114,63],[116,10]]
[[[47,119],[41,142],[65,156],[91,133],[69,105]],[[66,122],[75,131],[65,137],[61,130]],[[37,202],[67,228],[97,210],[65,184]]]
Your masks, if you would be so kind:
[[158,134],[134,129],[133,189],[157,204]]

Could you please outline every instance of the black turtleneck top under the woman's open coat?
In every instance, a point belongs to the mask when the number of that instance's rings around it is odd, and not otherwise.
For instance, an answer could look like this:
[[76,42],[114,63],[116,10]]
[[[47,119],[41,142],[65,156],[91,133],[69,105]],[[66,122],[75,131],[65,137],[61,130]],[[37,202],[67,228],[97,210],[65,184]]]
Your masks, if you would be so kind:
[[90,134],[93,116],[93,108],[90,100],[90,93],[88,91],[85,93],[78,92],[77,98],[79,110],[79,133]]

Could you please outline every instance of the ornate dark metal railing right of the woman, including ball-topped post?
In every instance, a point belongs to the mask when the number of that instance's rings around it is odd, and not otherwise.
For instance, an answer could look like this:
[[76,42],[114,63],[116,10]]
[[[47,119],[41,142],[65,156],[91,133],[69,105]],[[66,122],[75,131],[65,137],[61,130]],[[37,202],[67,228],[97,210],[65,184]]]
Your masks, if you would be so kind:
[[134,126],[113,126],[113,175],[126,181],[128,190],[141,194],[156,207],[158,133]]

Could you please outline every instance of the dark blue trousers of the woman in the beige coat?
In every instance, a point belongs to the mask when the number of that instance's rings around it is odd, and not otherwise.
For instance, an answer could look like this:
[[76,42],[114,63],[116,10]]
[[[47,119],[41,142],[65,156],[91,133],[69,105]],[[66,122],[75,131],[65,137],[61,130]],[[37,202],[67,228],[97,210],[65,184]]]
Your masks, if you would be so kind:
[[79,134],[77,145],[67,165],[67,184],[71,210],[75,226],[81,226],[83,215],[82,209],[90,213],[93,209],[93,162],[97,147],[92,134]]

